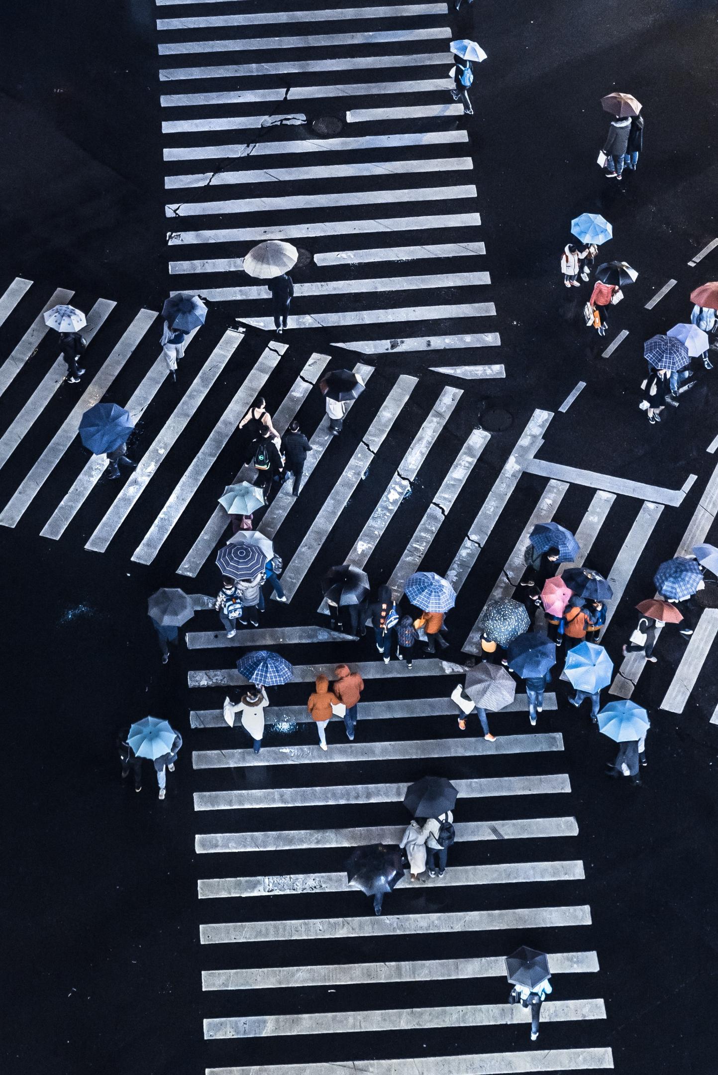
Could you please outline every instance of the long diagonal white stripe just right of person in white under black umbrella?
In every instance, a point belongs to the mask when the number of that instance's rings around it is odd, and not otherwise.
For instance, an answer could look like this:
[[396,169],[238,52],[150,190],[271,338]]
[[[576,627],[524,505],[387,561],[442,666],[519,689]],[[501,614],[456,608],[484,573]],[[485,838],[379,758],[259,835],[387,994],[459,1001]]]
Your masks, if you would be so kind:
[[[312,525],[302,539],[300,547],[286,565],[282,576],[282,588],[287,601],[291,601],[297,592],[314,558],[327,540],[329,531],[344,511],[349,497],[351,497],[359,485],[362,474],[384,443],[385,438],[389,434],[417,384],[417,377],[410,377],[405,374],[399,377],[379,407],[351,459],[346,464],[341,478],[316,512]],[[263,520],[260,524],[260,530],[262,533],[267,532],[263,529]]]

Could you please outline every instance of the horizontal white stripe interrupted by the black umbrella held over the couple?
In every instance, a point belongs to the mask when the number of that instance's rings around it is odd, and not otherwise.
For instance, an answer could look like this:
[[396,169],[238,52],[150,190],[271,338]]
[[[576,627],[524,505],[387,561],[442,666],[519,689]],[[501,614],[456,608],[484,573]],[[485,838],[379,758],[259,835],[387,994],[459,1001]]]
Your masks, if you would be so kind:
[[[253,751],[254,752],[254,751]],[[566,794],[571,784],[565,773],[549,776],[491,776],[476,780],[453,780],[459,796],[492,799],[498,796]],[[253,788],[249,791],[196,791],[195,809],[292,808],[401,802],[405,784],[338,785],[321,788]]]

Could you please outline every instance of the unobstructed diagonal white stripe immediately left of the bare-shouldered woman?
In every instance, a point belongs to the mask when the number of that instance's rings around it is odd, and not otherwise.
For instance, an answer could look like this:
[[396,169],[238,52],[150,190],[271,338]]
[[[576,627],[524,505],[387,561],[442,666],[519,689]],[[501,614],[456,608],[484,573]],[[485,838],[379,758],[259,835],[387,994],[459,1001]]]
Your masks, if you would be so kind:
[[287,344],[273,342],[269,347],[264,348],[257,359],[257,362],[234,393],[234,397],[221,417],[217,420],[206,441],[195,455],[191,463],[170,493],[159,515],[132,554],[131,559],[137,563],[153,562],[180,516],[196,493],[200,483],[206,477],[212,463],[229,441],[244,413],[259,395],[286,349]]

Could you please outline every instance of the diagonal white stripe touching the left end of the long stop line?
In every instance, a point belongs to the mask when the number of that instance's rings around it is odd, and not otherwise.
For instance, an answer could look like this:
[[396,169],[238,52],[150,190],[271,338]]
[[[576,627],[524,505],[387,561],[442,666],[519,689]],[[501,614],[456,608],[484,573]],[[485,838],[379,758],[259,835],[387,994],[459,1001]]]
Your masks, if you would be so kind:
[[491,487],[491,491],[479,508],[462,542],[461,548],[454,557],[446,577],[458,592],[463,586],[469,572],[475,564],[478,554],[486,544],[493,526],[508,503],[508,498],[516,488],[528,461],[537,452],[542,438],[554,417],[550,411],[534,411],[521,433],[516,447],[504,463],[501,474]]

